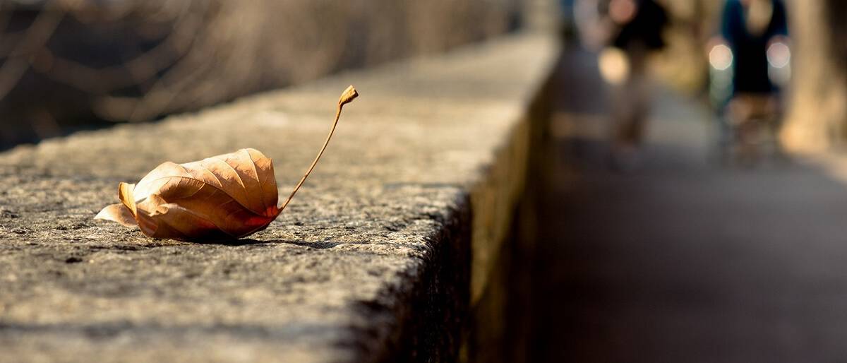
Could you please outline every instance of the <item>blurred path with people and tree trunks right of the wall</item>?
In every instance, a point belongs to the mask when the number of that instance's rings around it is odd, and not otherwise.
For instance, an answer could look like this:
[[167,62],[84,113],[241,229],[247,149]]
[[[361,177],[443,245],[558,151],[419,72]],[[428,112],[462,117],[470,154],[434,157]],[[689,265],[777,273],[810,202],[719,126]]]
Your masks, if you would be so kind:
[[486,360],[844,360],[847,2],[559,3]]

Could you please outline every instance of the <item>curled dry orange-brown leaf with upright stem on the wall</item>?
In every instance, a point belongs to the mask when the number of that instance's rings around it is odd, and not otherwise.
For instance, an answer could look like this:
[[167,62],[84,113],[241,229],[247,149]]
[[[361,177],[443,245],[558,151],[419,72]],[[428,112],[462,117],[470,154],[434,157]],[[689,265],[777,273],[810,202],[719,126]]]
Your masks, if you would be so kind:
[[118,187],[120,204],[103,208],[95,219],[139,226],[149,237],[183,241],[240,238],[263,230],[302,187],[338,125],[341,108],[357,98],[347,87],[324,146],[291,195],[278,207],[274,165],[254,148],[185,164],[165,162],[136,184]]

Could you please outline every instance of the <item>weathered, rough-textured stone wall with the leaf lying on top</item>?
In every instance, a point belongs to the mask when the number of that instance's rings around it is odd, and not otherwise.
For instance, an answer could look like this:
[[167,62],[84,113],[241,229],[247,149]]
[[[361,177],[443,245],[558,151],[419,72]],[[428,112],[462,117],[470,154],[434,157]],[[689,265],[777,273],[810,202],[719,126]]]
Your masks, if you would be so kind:
[[[512,36],[0,154],[0,361],[451,360],[555,56]],[[92,219],[119,181],[244,147],[274,159],[285,195],[351,83],[362,96],[313,176],[250,239]]]

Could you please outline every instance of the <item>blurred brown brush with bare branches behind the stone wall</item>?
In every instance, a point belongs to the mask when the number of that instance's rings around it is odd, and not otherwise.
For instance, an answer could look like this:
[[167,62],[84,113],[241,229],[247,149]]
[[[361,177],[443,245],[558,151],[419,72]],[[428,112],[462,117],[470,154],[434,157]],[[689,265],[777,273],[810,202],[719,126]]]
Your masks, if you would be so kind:
[[513,29],[519,10],[520,0],[0,0],[0,146],[27,128],[46,137],[75,122],[150,120],[442,52]]

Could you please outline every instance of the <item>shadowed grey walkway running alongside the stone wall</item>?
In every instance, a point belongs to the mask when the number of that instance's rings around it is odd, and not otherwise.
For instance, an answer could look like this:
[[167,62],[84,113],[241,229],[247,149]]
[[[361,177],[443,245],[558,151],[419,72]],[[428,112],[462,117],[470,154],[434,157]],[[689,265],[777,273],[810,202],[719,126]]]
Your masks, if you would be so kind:
[[707,162],[709,114],[661,92],[644,162],[606,168],[604,89],[571,53],[537,192],[531,361],[847,359],[847,187]]

